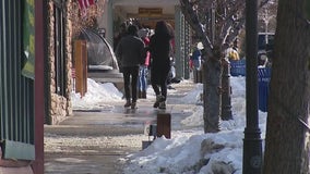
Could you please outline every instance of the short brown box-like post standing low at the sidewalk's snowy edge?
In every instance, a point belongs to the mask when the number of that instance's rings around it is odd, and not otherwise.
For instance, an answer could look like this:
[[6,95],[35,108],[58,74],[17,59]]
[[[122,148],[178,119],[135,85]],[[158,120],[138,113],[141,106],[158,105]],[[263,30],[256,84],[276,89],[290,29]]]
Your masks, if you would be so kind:
[[158,113],[157,114],[157,137],[165,136],[171,138],[171,114]]

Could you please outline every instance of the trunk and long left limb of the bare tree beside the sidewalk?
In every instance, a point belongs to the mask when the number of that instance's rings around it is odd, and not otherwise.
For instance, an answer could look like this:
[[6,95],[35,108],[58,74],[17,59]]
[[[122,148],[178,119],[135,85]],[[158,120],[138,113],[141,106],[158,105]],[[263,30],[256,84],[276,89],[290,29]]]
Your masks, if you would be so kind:
[[[220,64],[220,46],[212,47],[208,38],[204,34],[204,29],[199,21],[196,13],[193,11],[189,0],[181,0],[181,10],[186,20],[195,34],[201,39],[205,55],[203,64],[203,105],[204,105],[204,132],[219,132],[220,101],[222,101],[222,64]],[[219,41],[217,41],[219,42]]]

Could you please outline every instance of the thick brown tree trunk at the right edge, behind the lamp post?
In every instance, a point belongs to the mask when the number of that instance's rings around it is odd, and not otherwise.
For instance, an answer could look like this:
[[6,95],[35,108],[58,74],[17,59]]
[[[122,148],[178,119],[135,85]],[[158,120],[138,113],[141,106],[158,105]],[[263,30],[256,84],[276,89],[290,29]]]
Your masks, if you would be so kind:
[[310,38],[307,0],[279,0],[265,139],[264,174],[308,174]]

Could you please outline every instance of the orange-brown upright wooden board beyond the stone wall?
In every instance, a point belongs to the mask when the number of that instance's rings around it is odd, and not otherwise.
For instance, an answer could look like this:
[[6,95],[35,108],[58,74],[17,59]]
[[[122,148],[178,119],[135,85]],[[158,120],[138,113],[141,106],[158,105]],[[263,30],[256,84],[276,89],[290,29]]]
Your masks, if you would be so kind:
[[83,97],[87,91],[86,40],[74,41],[75,91]]

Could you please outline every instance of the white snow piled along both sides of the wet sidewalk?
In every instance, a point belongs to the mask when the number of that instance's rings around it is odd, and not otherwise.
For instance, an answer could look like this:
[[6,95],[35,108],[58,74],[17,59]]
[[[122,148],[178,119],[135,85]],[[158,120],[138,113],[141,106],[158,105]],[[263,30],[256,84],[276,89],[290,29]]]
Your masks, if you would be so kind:
[[[97,84],[92,79],[87,83],[91,87],[85,97],[81,99],[79,94],[72,94],[74,109],[95,109],[102,108],[107,101],[122,101],[122,94],[112,84]],[[182,83],[188,82],[181,82],[180,85]],[[246,126],[246,78],[230,77],[230,85],[234,120],[220,122],[219,133],[203,133],[203,108],[199,105],[192,115],[181,121],[192,129],[172,132],[171,139],[156,138],[146,149],[128,156],[123,159],[127,161],[123,173],[241,174]],[[200,103],[202,87],[202,84],[195,84],[182,99],[174,102]],[[154,98],[154,92],[150,88],[147,95],[150,95],[147,98]],[[259,111],[259,119],[264,139],[266,113]]]

